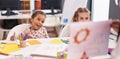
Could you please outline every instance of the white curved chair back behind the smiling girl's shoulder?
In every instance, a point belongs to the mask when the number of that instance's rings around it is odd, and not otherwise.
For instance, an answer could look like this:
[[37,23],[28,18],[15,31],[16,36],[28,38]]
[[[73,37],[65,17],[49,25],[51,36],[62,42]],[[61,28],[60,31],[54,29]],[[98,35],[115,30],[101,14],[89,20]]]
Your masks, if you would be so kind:
[[6,40],[10,40],[11,36],[14,35],[14,33],[15,33],[16,36],[20,35],[28,27],[30,27],[30,24],[20,24],[20,25],[17,25],[15,27],[13,27],[9,31]]

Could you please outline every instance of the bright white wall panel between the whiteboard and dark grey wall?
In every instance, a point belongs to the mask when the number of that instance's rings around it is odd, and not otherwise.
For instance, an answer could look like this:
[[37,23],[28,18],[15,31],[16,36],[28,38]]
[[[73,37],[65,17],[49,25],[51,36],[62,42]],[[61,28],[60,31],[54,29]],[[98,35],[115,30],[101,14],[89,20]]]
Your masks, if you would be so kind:
[[109,1],[110,0],[93,0],[92,1],[92,20],[103,21],[109,19]]

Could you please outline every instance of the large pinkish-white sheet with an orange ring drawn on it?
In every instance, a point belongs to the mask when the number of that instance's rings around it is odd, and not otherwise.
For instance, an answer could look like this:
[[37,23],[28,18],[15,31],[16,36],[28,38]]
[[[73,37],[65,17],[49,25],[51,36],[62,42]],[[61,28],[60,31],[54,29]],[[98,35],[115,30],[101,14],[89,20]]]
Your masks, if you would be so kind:
[[106,55],[109,32],[110,21],[72,23],[67,59]]

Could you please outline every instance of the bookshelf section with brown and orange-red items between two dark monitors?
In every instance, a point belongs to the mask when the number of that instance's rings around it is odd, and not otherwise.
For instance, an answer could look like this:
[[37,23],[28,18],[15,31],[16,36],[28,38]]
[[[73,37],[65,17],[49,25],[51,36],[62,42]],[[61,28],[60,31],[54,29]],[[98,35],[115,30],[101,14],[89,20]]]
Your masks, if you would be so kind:
[[41,0],[20,0],[22,13],[31,13],[34,10],[41,10]]

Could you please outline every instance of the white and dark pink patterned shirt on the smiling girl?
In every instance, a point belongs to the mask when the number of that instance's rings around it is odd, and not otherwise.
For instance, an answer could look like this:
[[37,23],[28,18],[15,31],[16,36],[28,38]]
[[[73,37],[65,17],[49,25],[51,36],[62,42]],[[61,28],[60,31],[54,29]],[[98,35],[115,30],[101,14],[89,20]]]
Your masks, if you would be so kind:
[[45,27],[41,27],[38,30],[33,30],[33,29],[30,29],[29,27],[23,32],[23,35],[25,35],[26,38],[34,38],[34,39],[49,37]]

